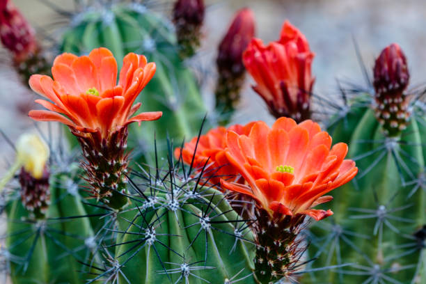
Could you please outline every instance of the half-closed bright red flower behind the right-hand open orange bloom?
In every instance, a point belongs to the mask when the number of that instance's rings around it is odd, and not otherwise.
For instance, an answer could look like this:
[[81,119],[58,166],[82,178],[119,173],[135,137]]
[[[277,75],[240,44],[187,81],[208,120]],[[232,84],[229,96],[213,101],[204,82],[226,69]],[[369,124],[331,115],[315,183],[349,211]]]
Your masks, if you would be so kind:
[[248,45],[243,60],[257,83],[253,89],[276,118],[287,116],[302,121],[310,117],[314,55],[305,36],[287,21],[280,40],[265,47],[255,38]]

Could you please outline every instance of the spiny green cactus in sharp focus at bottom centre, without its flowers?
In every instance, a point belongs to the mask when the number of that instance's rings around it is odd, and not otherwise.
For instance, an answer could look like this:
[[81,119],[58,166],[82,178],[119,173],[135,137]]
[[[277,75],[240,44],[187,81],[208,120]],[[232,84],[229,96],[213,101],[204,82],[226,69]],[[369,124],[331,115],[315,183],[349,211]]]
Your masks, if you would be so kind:
[[[168,162],[168,170],[132,181],[139,196],[119,216],[116,258],[129,283],[227,283],[239,273],[254,283],[253,237],[220,191],[189,178],[188,168]],[[167,166],[166,166],[167,167]],[[180,173],[179,173],[180,171]],[[185,173],[186,172],[186,173]],[[138,271],[138,273],[134,273]]]

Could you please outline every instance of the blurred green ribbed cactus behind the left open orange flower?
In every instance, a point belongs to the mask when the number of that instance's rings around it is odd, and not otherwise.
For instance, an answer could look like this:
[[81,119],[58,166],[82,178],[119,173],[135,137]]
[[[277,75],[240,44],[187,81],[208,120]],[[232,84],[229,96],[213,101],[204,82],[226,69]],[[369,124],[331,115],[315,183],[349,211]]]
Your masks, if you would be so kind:
[[[145,155],[145,161],[153,161],[154,132],[160,142],[166,141],[167,134],[182,141],[198,133],[192,122],[205,116],[205,107],[194,75],[180,59],[170,22],[137,3],[89,8],[74,17],[71,28],[63,35],[61,49],[86,54],[96,47],[109,48],[119,68],[129,52],[143,53],[157,65],[141,101],[144,111],[162,111],[163,117],[157,123],[134,129],[139,134],[132,136],[135,138],[129,141],[129,147],[139,150],[133,153],[136,159]],[[165,153],[160,155],[165,157]]]

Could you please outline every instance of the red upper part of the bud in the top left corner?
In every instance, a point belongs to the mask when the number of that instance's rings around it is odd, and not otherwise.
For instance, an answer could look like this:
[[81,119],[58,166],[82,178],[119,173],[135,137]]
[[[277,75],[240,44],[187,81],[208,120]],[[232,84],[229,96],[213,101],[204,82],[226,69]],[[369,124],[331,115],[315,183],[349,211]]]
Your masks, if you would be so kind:
[[33,28],[10,0],[0,0],[0,40],[18,61],[37,49]]

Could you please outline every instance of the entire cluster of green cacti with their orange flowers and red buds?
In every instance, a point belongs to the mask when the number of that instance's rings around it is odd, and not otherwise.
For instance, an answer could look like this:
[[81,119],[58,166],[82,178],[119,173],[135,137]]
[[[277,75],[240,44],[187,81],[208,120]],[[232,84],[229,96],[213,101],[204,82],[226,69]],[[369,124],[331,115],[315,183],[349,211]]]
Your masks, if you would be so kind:
[[[0,3],[3,44],[37,51],[13,3]],[[426,281],[426,106],[407,90],[398,45],[381,52],[367,89],[341,88],[345,104],[329,104],[326,132],[309,120],[305,36],[285,22],[265,46],[251,10],[239,10],[216,61],[219,123],[235,110],[245,70],[277,119],[210,129],[182,62],[200,45],[203,1],[176,1],[176,33],[139,1],[100,8],[74,16],[53,78],[29,79],[48,109],[29,116],[67,125],[81,156],[62,145],[63,127],[45,142],[17,142],[0,180],[0,256],[13,283]],[[331,200],[333,211],[322,209]],[[307,230],[310,219],[320,222]]]

